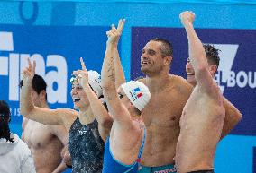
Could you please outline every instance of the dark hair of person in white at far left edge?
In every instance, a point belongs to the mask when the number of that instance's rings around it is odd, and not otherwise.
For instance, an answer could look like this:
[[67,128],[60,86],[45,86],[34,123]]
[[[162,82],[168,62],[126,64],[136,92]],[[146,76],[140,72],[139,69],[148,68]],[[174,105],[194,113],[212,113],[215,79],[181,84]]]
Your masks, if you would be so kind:
[[0,138],[14,143],[10,136],[9,122],[11,121],[11,112],[8,104],[4,100],[0,100]]

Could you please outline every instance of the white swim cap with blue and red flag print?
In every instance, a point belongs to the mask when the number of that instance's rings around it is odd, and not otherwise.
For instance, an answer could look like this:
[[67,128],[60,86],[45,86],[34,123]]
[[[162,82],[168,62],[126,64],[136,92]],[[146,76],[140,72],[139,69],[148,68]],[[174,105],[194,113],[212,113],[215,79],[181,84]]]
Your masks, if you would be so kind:
[[149,88],[142,82],[130,81],[121,85],[124,93],[133,105],[142,111],[151,99]]

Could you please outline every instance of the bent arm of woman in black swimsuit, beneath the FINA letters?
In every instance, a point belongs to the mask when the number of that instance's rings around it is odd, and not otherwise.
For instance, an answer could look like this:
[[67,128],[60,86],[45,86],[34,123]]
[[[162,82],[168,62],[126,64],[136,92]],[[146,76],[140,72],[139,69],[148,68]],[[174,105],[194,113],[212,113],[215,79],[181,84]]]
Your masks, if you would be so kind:
[[[67,125],[66,117],[74,117],[76,112],[70,109],[49,109],[35,107],[32,102],[32,79],[35,72],[33,64],[28,59],[29,66],[23,70],[23,86],[21,88],[20,108],[23,117],[45,125]],[[64,120],[63,120],[64,119]]]

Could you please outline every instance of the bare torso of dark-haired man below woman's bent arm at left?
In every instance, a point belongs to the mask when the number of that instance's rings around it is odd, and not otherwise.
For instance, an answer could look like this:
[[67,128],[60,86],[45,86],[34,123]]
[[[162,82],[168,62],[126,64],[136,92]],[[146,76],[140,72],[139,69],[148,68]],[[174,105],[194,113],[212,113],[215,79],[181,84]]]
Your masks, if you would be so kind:
[[66,130],[63,126],[50,126],[23,119],[23,141],[28,144],[32,151],[37,173],[50,173],[55,170],[60,162],[60,152],[63,144],[53,131]]

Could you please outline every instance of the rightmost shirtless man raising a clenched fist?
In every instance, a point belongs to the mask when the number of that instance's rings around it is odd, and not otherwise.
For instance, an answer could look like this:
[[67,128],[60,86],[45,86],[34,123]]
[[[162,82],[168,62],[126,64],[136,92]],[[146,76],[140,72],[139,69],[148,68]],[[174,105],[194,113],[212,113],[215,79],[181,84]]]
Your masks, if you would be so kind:
[[214,80],[217,70],[214,56],[207,56],[193,28],[195,14],[183,12],[180,20],[187,32],[189,60],[197,85],[180,118],[180,134],[176,149],[178,173],[214,172],[216,145],[224,125],[223,95]]

